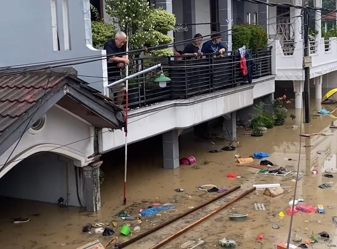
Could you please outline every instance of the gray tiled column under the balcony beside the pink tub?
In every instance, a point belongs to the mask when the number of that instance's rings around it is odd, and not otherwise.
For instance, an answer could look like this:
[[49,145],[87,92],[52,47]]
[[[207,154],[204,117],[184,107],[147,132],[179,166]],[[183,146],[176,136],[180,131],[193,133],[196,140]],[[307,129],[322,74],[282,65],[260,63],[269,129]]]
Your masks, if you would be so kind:
[[164,168],[179,167],[179,130],[171,130],[162,134]]

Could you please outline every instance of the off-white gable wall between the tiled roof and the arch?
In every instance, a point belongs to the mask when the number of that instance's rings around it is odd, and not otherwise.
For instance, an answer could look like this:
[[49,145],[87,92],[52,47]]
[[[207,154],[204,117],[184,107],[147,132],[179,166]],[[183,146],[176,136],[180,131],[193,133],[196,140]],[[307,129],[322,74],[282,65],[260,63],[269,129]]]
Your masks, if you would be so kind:
[[[94,134],[94,128],[91,125],[71,116],[56,106],[47,112],[46,117],[45,125],[40,132],[37,134],[31,134],[29,131],[25,132],[8,162],[17,160],[26,151],[30,151],[32,148],[43,144],[56,146],[67,145],[62,149],[67,150],[69,148],[69,150],[76,151],[77,154],[83,155],[84,158],[94,154],[94,137],[91,137]],[[73,143],[86,137],[89,138]],[[6,162],[16,144],[17,142],[0,156],[0,165]],[[17,163],[18,161],[14,164]],[[75,161],[77,166],[82,166],[81,163],[83,164],[84,162]],[[0,178],[6,171],[5,168],[0,172]]]

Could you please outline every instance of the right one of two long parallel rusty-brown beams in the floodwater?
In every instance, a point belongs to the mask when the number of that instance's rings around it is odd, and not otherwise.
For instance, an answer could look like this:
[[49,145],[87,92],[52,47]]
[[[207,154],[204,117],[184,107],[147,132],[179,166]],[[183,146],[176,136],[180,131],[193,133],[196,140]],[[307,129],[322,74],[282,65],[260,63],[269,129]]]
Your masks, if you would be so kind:
[[170,242],[171,240],[177,238],[178,236],[182,235],[184,232],[188,231],[189,229],[195,227],[196,225],[200,224],[201,222],[207,220],[208,218],[212,217],[213,215],[219,213],[221,210],[227,208],[228,206],[232,205],[233,203],[235,203],[236,201],[240,200],[241,198],[245,197],[247,194],[255,191],[255,187],[249,189],[248,191],[244,192],[243,194],[239,195],[238,197],[232,199],[231,201],[227,202],[226,204],[222,205],[220,208],[214,210],[213,212],[209,213],[208,215],[202,217],[201,219],[193,222],[192,224],[184,227],[183,229],[181,229],[180,231],[176,232],[175,234],[167,237],[166,239],[160,241],[157,245],[151,247],[150,249],[158,249],[161,246],[165,245],[166,243]]

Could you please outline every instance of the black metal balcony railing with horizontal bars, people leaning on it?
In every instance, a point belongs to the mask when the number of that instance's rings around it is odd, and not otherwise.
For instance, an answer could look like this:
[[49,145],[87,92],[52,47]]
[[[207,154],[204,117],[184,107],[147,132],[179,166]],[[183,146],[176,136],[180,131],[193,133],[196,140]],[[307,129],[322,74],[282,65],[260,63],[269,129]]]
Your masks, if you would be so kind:
[[[271,48],[253,51],[253,79],[271,74]],[[242,76],[240,69],[240,55],[228,53],[224,57],[214,58],[206,55],[200,59],[174,60],[174,57],[151,57],[135,58],[130,60],[129,75],[137,71],[161,63],[164,74],[171,78],[167,86],[160,88],[154,79],[158,76],[156,72],[141,74],[129,80],[128,96],[129,107],[136,108],[173,99],[187,99],[196,95],[212,93],[225,88],[231,88],[247,84],[246,77]],[[108,70],[112,70],[109,67]],[[116,67],[114,70],[118,70]],[[112,83],[121,77],[115,77],[109,81]],[[115,91],[115,90],[111,90]],[[117,104],[118,91],[110,93]],[[125,104],[125,96],[122,102]]]

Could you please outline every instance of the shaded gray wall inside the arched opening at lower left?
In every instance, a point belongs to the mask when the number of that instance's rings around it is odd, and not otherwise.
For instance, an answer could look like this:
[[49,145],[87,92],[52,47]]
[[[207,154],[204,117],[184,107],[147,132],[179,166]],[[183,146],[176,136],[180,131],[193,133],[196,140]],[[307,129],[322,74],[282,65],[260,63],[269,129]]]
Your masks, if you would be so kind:
[[[68,161],[68,164],[65,162]],[[76,193],[76,172],[72,160],[52,152],[28,157],[14,166],[0,179],[0,195],[57,203],[59,197],[67,199],[66,165],[70,200],[68,205],[80,206]],[[81,170],[78,168],[80,174]],[[78,190],[82,205],[83,180],[78,178]]]

